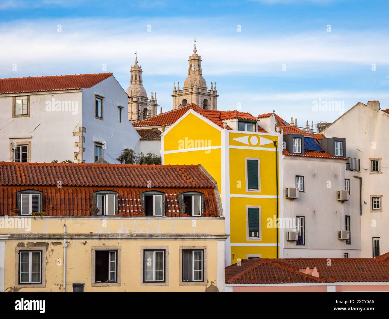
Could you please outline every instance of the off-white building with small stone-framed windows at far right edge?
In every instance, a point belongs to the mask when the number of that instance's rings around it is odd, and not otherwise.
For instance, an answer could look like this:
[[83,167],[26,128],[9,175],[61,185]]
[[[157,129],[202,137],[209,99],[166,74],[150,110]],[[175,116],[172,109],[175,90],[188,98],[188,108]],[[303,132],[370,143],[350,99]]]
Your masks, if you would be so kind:
[[345,137],[347,156],[360,160],[361,257],[389,252],[388,113],[379,101],[359,102],[322,131],[327,137]]

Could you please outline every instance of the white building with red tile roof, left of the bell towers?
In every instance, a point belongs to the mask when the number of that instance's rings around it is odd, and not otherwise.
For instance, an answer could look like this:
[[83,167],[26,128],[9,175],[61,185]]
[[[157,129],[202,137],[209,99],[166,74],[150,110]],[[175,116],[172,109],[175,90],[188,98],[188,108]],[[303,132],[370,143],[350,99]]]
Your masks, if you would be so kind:
[[118,163],[139,151],[112,73],[0,79],[0,161]]

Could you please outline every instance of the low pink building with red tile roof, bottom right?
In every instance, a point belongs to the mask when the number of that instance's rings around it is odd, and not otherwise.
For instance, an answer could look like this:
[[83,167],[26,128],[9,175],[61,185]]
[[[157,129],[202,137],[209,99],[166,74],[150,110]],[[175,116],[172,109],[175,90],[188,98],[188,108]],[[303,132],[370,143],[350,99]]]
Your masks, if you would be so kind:
[[243,259],[226,292],[389,292],[389,253],[376,258]]

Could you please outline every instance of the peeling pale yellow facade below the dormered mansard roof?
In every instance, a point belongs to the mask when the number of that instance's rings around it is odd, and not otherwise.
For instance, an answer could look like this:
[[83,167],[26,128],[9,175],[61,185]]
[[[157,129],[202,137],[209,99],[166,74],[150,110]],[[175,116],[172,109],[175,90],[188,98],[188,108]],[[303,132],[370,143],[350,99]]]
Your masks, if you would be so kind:
[[[13,220],[11,225],[11,220]],[[5,292],[62,292],[66,255],[66,291],[72,283],[85,284],[85,292],[214,292],[224,291],[224,218],[0,218],[0,253],[4,250]],[[19,222],[19,223],[20,223]],[[8,226],[5,226],[8,225]],[[66,225],[66,229],[65,229]],[[26,226],[26,227],[25,227]],[[7,227],[7,228],[6,228]],[[64,233],[66,232],[66,233]],[[66,253],[64,255],[64,244]],[[166,250],[165,283],[143,282],[142,249]],[[204,249],[204,282],[180,282],[180,248]],[[44,251],[43,285],[18,285],[18,251]],[[93,249],[120,250],[117,284],[93,285]],[[45,262],[46,261],[46,262]],[[120,273],[120,274],[119,274]],[[1,283],[0,283],[1,284]]]

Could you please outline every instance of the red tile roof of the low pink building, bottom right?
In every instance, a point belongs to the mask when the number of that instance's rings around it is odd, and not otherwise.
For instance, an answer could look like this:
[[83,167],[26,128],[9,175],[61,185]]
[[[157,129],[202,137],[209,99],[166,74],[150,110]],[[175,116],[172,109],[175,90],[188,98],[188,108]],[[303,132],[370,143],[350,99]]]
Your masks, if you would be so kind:
[[[225,268],[225,278],[226,283],[234,284],[301,283],[309,282],[308,278],[301,281],[301,276],[309,275],[301,273],[300,270],[316,268],[319,279],[324,282],[389,282],[389,264],[380,260],[379,257],[330,258],[330,261],[331,266],[328,266],[328,258],[243,259],[241,266],[233,264]],[[272,272],[269,264],[273,267],[273,264],[278,264],[283,272],[275,272],[274,269]],[[289,275],[289,280],[286,281],[285,276],[292,271],[300,272],[299,276]],[[278,273],[283,275],[278,275]],[[276,275],[278,275],[277,279],[275,279]],[[243,280],[245,282],[242,282]]]

